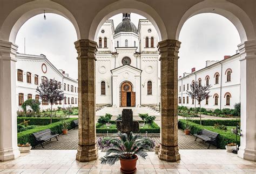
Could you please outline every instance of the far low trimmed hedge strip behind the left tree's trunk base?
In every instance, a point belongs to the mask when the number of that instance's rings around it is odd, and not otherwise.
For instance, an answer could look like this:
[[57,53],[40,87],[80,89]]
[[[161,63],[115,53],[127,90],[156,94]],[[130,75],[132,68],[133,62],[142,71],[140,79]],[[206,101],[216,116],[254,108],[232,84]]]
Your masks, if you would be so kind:
[[[43,118],[37,118],[37,117],[18,117],[17,118],[17,124],[22,123],[23,121],[29,120],[29,125],[49,125],[51,118],[50,117],[43,117]],[[58,122],[59,118],[52,118],[52,123]]]

